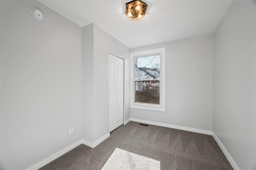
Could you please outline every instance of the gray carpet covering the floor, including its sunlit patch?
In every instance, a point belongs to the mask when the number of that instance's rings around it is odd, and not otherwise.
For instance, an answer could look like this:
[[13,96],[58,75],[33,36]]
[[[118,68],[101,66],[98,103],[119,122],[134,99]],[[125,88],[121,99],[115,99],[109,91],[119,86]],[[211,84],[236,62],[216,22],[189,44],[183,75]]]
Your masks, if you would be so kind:
[[79,145],[40,170],[232,170],[210,135],[130,121],[94,149]]

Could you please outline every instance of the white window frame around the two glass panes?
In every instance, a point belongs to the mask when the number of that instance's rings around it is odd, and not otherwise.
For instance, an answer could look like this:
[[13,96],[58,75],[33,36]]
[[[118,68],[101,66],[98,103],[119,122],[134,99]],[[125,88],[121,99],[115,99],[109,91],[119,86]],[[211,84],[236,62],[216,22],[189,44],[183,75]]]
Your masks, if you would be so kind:
[[[158,54],[160,54],[160,105],[156,106],[150,104],[136,104],[134,102],[134,59],[135,57],[143,57]],[[165,47],[130,53],[130,69],[130,108],[165,111]]]

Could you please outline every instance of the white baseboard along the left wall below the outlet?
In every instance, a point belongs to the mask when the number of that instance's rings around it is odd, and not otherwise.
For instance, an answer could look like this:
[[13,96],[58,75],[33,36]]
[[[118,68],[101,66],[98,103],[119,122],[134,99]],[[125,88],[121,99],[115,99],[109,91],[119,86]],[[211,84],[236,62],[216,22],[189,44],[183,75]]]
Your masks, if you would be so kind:
[[74,149],[75,147],[81,145],[83,142],[83,140],[77,141],[75,143],[73,143],[72,145],[69,145],[68,147],[52,154],[51,156],[48,156],[47,158],[41,160],[40,162],[28,167],[26,170],[38,170],[39,168],[42,168],[43,166],[45,166],[46,164],[52,162],[53,160],[55,160],[56,158],[62,156],[63,154],[65,154],[66,152]]

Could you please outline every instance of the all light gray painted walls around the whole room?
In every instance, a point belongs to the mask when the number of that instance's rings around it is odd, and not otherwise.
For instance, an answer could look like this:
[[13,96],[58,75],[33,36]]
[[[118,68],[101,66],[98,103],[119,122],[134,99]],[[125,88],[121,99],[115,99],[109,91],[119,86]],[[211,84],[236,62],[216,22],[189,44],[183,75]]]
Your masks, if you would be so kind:
[[[213,127],[240,169],[256,168],[255,6],[234,1],[214,41],[206,35],[132,49],[166,47],[166,112],[130,114],[130,49],[97,25],[81,28],[40,2],[1,1],[0,168],[28,168],[108,133],[108,52],[125,58],[124,120]],[[44,20],[33,18],[31,8]]]

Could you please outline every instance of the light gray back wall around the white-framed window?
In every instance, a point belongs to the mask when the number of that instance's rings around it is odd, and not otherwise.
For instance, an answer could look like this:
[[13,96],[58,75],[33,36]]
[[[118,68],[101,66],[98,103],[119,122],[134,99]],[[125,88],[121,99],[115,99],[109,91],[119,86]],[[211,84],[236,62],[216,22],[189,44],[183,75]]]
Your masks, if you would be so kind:
[[166,47],[166,111],[131,109],[131,118],[212,131],[212,38],[131,49]]

